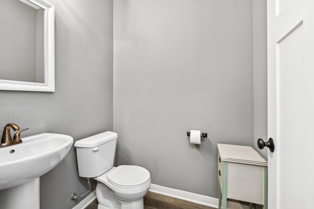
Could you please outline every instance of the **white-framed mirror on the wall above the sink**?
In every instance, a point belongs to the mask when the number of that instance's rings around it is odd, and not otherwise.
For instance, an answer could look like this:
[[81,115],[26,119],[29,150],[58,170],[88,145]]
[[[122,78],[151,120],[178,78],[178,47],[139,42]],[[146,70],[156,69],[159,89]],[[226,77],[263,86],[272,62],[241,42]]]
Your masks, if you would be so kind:
[[54,92],[54,6],[0,0],[0,90]]

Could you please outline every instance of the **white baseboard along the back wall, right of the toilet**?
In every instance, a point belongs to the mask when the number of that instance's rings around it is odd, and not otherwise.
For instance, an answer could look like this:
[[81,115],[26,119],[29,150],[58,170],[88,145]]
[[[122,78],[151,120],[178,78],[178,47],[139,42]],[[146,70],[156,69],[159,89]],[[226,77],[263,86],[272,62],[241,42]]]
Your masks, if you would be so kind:
[[[189,201],[192,203],[196,203],[203,206],[209,206],[211,208],[218,208],[218,199],[214,197],[209,197],[201,194],[195,194],[188,191],[183,191],[179,189],[169,188],[165,186],[159,186],[151,184],[149,189],[151,192],[155,192],[157,194],[166,195],[169,197],[174,197],[180,200]],[[235,202],[228,201],[227,203],[228,209],[249,209],[249,206],[242,205]]]

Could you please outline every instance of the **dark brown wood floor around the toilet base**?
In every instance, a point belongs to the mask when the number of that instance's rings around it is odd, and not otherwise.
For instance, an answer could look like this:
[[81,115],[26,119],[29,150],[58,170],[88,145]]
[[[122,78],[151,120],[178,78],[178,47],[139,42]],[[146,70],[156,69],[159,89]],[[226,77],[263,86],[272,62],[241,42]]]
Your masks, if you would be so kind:
[[[97,209],[97,199],[85,209]],[[147,192],[144,196],[144,209],[213,209],[207,206],[179,200],[165,195]]]

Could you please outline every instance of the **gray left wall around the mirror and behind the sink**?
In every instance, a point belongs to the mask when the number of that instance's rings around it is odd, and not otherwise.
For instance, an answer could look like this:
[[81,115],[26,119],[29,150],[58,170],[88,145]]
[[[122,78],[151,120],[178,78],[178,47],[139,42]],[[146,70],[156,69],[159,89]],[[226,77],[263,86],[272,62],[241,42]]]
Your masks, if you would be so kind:
[[[55,93],[0,91],[0,124],[82,139],[112,130],[112,0],[49,0],[55,6]],[[41,177],[41,209],[71,209],[86,191],[75,149]]]

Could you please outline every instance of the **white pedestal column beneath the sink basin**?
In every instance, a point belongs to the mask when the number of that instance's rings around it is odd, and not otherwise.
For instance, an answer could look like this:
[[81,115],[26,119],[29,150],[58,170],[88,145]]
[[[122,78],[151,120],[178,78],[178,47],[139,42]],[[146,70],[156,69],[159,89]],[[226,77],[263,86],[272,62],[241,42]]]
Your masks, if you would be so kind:
[[0,208],[39,209],[39,177],[23,185],[0,190]]

